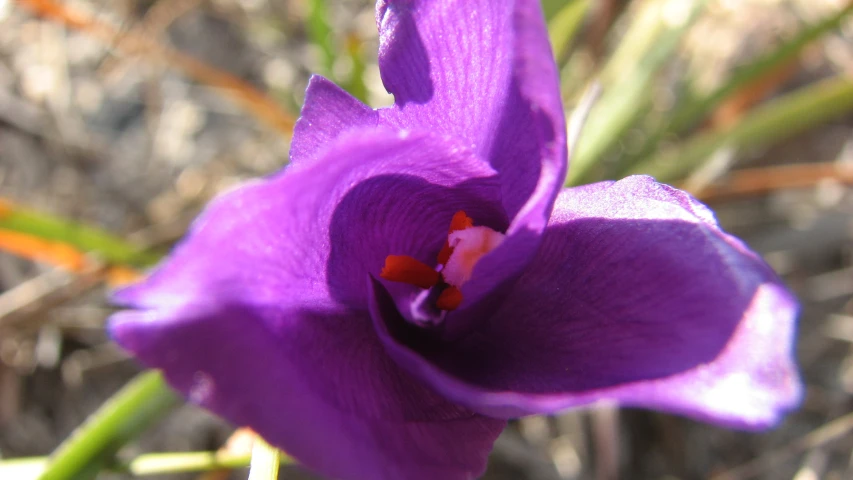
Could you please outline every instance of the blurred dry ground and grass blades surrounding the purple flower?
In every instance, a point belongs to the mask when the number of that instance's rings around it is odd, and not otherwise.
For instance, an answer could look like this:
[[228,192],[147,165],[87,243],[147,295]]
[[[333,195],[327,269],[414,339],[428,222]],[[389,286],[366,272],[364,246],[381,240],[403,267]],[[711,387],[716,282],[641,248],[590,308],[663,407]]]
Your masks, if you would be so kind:
[[[485,478],[853,478],[853,2],[543,2],[567,112],[603,87],[568,182],[649,173],[711,205],[801,299],[807,395],[760,434],[613,408],[524,419]],[[367,0],[0,0],[0,459],[49,454],[139,372],[104,335],[105,292],[286,163],[310,74],[392,102],[376,47]],[[246,435],[184,405],[120,457],[240,454]]]

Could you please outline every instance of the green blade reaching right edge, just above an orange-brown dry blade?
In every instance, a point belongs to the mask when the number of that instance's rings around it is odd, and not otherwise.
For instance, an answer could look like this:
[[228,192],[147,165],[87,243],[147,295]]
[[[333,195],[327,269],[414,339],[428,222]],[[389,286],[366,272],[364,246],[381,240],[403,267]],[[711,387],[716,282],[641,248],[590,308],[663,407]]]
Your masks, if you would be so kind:
[[696,135],[678,147],[634,165],[667,182],[700,166],[720,148],[768,145],[853,111],[853,80],[846,74],[813,83],[756,108],[730,128]]

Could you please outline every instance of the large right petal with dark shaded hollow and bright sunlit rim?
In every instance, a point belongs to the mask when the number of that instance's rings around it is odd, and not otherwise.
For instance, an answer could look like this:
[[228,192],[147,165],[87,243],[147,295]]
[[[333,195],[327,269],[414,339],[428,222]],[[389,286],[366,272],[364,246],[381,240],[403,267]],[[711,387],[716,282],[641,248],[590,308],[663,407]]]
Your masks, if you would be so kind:
[[706,207],[648,177],[565,190],[512,295],[452,345],[411,335],[375,290],[389,353],[488,415],[616,401],[762,428],[801,395],[794,298]]

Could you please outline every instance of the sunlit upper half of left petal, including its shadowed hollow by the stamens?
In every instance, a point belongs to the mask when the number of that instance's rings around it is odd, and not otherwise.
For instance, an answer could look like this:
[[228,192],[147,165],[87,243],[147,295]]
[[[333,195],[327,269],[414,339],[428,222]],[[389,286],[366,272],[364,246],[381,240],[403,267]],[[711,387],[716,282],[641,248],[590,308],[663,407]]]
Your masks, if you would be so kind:
[[456,211],[505,226],[499,195],[488,164],[446,138],[354,131],[321,161],[214,200],[168,262],[114,298],[133,307],[332,298],[364,310],[368,274],[390,254],[434,262]]

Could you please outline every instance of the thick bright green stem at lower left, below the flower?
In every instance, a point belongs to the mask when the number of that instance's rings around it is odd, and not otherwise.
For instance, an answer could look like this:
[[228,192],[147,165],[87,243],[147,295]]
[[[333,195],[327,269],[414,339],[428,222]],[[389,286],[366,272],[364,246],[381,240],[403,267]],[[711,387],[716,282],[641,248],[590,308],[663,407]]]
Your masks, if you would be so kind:
[[140,374],[59,446],[39,479],[82,478],[88,465],[112,457],[177,403],[160,372]]

